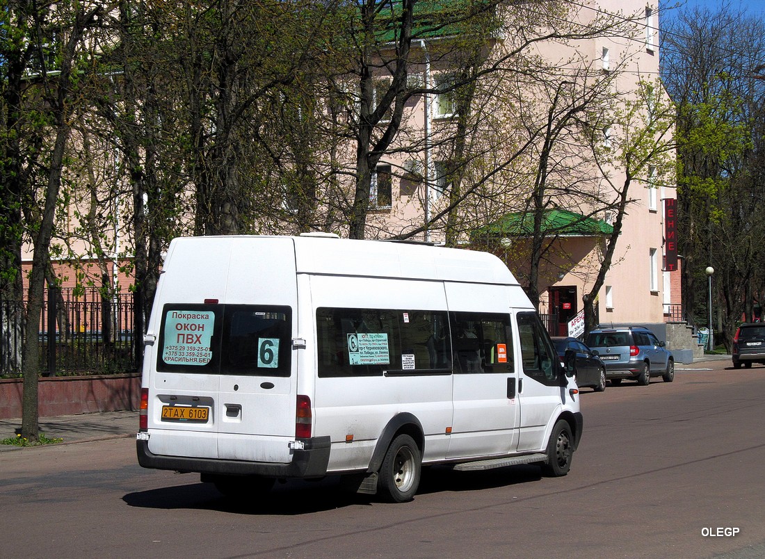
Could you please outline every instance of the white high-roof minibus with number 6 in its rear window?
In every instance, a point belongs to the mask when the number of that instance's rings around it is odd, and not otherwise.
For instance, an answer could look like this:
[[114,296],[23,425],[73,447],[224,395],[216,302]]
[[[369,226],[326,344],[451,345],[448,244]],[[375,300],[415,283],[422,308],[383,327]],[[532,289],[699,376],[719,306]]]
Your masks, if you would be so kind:
[[571,372],[487,252],[174,239],[144,340],[138,463],[226,494],[338,474],[404,502],[423,465],[564,476],[581,437]]

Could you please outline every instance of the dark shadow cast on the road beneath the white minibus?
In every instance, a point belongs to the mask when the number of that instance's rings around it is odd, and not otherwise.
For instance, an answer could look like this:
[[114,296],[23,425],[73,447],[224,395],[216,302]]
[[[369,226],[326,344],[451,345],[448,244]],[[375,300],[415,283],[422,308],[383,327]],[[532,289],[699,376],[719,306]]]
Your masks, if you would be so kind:
[[[539,466],[532,465],[477,472],[457,472],[449,466],[425,466],[417,495],[482,491],[540,479]],[[316,481],[290,479],[285,483],[276,483],[271,492],[257,499],[223,496],[212,483],[190,483],[127,493],[122,500],[129,506],[144,509],[197,509],[239,515],[290,516],[352,505],[386,504],[380,496],[353,492],[340,476],[327,476]]]

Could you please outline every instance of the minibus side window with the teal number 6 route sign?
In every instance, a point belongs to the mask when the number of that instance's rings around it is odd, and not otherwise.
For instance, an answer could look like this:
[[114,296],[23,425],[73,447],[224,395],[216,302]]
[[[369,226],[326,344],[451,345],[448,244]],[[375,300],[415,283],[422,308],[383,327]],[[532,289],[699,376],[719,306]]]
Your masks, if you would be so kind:
[[451,372],[444,311],[320,307],[316,325],[320,377]]

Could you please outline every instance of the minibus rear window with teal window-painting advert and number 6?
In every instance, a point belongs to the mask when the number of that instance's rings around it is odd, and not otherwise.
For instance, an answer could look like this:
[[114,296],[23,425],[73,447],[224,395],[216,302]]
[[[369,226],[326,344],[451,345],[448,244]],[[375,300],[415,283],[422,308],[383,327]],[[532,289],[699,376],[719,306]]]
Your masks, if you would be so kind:
[[289,376],[291,331],[290,307],[166,304],[157,370]]

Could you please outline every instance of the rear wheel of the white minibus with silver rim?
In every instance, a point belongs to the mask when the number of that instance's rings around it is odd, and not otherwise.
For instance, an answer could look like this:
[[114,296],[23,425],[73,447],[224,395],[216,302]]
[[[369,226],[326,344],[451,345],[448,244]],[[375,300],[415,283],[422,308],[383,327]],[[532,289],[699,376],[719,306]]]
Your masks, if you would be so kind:
[[415,440],[401,434],[388,447],[380,466],[377,489],[390,502],[411,501],[420,485],[422,456]]

